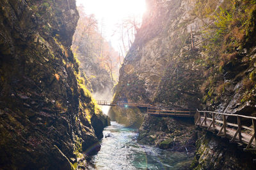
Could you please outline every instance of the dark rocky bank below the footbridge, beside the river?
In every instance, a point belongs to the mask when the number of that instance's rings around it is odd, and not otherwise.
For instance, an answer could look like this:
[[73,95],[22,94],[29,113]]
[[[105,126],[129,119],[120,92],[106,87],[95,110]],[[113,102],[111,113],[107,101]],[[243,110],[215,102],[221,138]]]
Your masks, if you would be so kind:
[[198,132],[194,131],[193,120],[184,118],[145,117],[140,127],[138,141],[156,145],[161,149],[179,152],[195,151]]

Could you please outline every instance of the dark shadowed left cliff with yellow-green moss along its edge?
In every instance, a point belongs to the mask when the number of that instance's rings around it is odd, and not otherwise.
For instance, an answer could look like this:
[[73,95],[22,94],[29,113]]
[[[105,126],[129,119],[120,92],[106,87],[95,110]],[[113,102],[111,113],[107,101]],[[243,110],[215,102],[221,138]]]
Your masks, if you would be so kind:
[[77,20],[75,0],[0,2],[0,169],[83,168],[102,137],[108,120],[77,83]]

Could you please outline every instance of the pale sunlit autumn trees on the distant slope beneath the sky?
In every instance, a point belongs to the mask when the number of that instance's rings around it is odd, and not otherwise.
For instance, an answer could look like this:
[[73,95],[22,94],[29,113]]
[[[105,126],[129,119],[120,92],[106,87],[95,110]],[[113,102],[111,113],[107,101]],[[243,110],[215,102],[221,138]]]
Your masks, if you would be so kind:
[[[98,67],[99,71],[106,71],[113,82],[117,81],[120,66],[118,52],[104,39],[102,28],[99,29],[95,16],[86,15],[83,12],[83,6],[79,6],[77,10],[79,10],[80,19],[73,37],[72,50],[80,62],[86,63],[80,64],[81,70],[88,73],[88,64],[92,64]],[[86,76],[94,75],[89,73]]]

